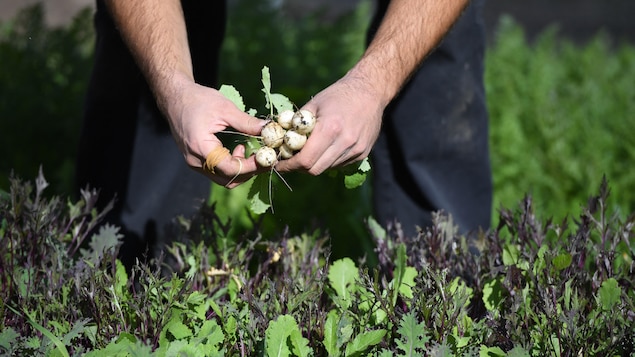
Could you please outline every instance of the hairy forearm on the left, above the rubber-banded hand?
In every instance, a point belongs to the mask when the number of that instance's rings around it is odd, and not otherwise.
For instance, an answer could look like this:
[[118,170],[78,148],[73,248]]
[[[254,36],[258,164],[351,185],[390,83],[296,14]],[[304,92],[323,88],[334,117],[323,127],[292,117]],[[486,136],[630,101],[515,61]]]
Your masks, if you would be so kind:
[[193,81],[185,20],[179,0],[106,0],[119,32],[169,116],[184,81]]

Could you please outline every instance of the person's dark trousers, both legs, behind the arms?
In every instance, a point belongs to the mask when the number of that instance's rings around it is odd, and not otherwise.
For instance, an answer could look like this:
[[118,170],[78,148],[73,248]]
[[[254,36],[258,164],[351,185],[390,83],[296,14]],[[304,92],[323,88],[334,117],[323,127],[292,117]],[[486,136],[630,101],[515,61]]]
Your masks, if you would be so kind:
[[[379,1],[370,34],[388,1]],[[182,0],[198,83],[215,86],[225,31],[224,1]],[[482,1],[473,1],[443,44],[385,113],[372,152],[375,210],[406,232],[451,213],[464,231],[489,226],[491,179],[483,89]],[[123,228],[123,259],[195,212],[210,181],[187,167],[166,120],[113,24],[97,1],[95,62],[77,161],[77,184],[117,197],[108,221]],[[159,238],[161,239],[161,238]],[[140,245],[140,246],[139,246]]]

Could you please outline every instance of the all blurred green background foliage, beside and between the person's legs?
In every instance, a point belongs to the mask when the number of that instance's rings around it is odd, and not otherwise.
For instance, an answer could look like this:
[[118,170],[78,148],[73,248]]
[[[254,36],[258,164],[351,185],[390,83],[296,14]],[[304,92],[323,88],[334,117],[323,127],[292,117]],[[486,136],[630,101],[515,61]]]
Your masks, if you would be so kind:
[[[343,75],[363,51],[370,2],[325,20],[292,15],[256,0],[230,8],[221,83],[232,84],[261,113],[260,71],[272,90],[298,106]],[[63,28],[47,28],[39,6],[0,26],[0,189],[11,170],[34,177],[40,164],[54,193],[72,189],[72,172],[90,71],[91,11]],[[535,42],[511,19],[501,22],[486,59],[495,197],[501,207],[525,193],[543,214],[576,216],[606,175],[615,210],[635,211],[635,49],[598,35],[585,45],[545,32]],[[276,180],[275,175],[273,176]],[[370,247],[363,225],[371,212],[369,185],[346,190],[340,178],[285,175],[274,183],[274,215],[259,217],[265,237],[328,227],[334,244]],[[245,188],[212,188],[237,234],[252,224]],[[360,243],[361,244],[358,244]],[[336,247],[337,248],[337,247]]]

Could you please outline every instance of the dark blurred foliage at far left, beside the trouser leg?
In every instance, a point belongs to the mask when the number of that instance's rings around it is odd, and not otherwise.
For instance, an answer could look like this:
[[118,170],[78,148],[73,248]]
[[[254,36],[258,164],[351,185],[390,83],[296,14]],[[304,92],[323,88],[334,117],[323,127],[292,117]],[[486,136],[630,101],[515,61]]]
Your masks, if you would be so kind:
[[54,193],[72,189],[92,44],[88,9],[66,27],[48,28],[41,3],[0,24],[0,189],[40,165]]

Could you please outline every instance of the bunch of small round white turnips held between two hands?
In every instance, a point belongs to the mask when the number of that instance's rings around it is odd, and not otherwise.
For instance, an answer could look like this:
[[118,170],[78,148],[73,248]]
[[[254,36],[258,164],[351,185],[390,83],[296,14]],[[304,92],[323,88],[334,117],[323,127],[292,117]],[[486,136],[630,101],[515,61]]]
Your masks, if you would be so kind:
[[258,165],[273,167],[278,160],[293,157],[304,147],[315,123],[315,115],[306,109],[283,110],[274,115],[260,132],[264,146],[256,151]]

